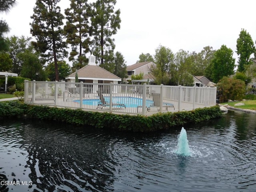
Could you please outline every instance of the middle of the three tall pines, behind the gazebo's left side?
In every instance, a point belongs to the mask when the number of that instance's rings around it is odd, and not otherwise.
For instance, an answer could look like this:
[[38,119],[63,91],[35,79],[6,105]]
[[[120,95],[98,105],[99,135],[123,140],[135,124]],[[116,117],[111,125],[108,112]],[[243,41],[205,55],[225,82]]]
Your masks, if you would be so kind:
[[77,67],[86,65],[86,53],[90,48],[90,4],[87,0],[70,0],[70,7],[65,10],[66,26],[64,32],[67,35],[66,43],[71,45],[70,61],[76,60]]

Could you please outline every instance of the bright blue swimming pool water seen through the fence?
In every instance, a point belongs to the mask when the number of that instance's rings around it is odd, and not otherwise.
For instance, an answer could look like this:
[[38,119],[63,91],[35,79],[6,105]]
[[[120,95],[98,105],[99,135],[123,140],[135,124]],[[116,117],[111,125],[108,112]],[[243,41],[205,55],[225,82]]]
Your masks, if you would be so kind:
[[[106,102],[109,102],[109,97],[104,97]],[[80,100],[74,102],[80,103]],[[83,105],[98,106],[100,99],[84,99]],[[112,97],[112,103],[124,104],[126,107],[142,106],[142,99],[135,97]],[[153,104],[153,100],[146,100],[146,106],[149,107]]]

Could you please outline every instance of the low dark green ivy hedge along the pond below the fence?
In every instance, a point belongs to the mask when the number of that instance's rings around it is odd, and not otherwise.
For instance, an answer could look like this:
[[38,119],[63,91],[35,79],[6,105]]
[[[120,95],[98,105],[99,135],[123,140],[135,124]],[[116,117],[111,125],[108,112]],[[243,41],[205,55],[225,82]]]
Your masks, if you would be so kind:
[[219,106],[192,111],[158,113],[152,116],[132,116],[81,109],[33,106],[17,101],[0,102],[0,117],[24,116],[40,120],[54,120],[74,125],[132,132],[150,132],[170,129],[189,122],[202,122],[222,117]]

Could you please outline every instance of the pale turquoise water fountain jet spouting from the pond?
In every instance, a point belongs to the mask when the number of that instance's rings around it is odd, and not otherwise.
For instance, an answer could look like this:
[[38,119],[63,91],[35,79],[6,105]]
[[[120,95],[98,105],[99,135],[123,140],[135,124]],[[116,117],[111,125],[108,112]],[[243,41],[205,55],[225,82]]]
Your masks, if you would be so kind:
[[180,134],[178,135],[178,149],[176,150],[176,154],[183,155],[183,156],[189,156],[190,155],[190,149],[188,146],[188,138],[187,138],[187,132],[182,127]]

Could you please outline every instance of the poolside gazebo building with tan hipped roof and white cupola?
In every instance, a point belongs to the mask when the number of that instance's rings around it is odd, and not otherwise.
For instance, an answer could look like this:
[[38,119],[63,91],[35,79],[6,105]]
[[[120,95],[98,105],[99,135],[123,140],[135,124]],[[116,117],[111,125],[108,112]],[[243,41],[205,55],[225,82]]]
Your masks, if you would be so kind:
[[114,83],[121,82],[121,78],[110,73],[109,71],[96,65],[96,57],[94,55],[89,56],[88,65],[70,74],[65,79],[67,82],[75,82],[76,73],[78,74],[79,82],[86,83]]

